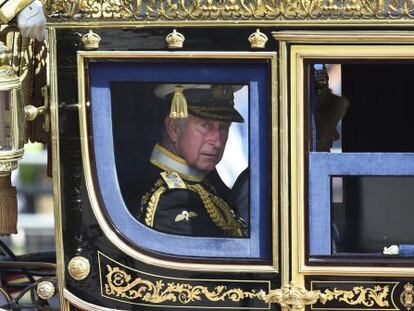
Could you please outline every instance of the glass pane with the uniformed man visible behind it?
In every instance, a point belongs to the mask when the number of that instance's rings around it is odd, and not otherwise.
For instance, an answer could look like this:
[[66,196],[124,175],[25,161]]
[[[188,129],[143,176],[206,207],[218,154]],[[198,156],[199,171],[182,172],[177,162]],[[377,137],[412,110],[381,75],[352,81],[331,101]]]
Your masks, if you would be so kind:
[[[134,165],[140,167],[138,176],[146,176],[131,183],[135,177],[129,176],[130,163],[117,163],[131,214],[164,233],[247,238],[249,86],[113,82],[111,92],[113,125],[119,136],[115,144],[122,146],[132,136],[131,141],[141,146]],[[188,117],[173,118],[180,104],[187,107]],[[126,126],[130,118],[131,124],[142,127]],[[162,194],[158,197],[156,191],[164,189],[164,181],[172,184],[168,191],[158,191]],[[215,209],[232,222],[233,231],[220,217],[210,220]]]

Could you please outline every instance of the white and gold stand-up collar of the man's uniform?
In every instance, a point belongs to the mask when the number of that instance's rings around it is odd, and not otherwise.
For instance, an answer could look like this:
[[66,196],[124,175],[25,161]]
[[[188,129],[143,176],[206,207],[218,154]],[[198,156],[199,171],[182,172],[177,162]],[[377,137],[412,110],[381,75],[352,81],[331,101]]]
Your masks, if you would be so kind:
[[183,158],[171,153],[159,144],[154,146],[150,162],[165,171],[177,172],[182,178],[190,181],[202,181],[207,175],[206,172],[189,166]]

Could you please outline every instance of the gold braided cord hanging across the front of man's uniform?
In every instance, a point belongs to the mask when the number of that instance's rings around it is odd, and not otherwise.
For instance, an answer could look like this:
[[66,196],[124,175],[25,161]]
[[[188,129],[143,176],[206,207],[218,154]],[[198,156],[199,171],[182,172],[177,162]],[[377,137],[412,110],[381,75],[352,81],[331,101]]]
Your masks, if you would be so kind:
[[229,205],[223,199],[208,192],[200,184],[188,185],[188,189],[198,193],[211,220],[217,227],[224,230],[229,236],[245,236],[243,225],[237,220]]

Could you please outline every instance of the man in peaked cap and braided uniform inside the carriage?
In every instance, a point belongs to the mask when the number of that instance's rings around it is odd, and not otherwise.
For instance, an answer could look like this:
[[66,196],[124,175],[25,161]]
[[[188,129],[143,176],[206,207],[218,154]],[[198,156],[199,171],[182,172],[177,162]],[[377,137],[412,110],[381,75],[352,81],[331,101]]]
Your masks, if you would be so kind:
[[[243,122],[233,107],[233,93],[231,85],[157,87],[158,97],[168,102],[173,97],[176,111],[165,117],[162,139],[144,174],[147,190],[139,218],[147,226],[178,235],[246,236],[244,221],[225,201],[215,171],[231,122]],[[172,117],[182,110],[183,118]]]

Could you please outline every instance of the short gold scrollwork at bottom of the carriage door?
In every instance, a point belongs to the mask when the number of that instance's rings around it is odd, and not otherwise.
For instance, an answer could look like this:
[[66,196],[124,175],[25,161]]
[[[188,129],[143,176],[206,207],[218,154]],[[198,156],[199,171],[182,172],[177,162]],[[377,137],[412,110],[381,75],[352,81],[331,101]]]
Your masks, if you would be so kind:
[[355,286],[352,290],[326,289],[324,292],[326,301],[338,300],[348,305],[363,305],[365,307],[388,307],[387,300],[389,286],[376,285],[374,288]]

